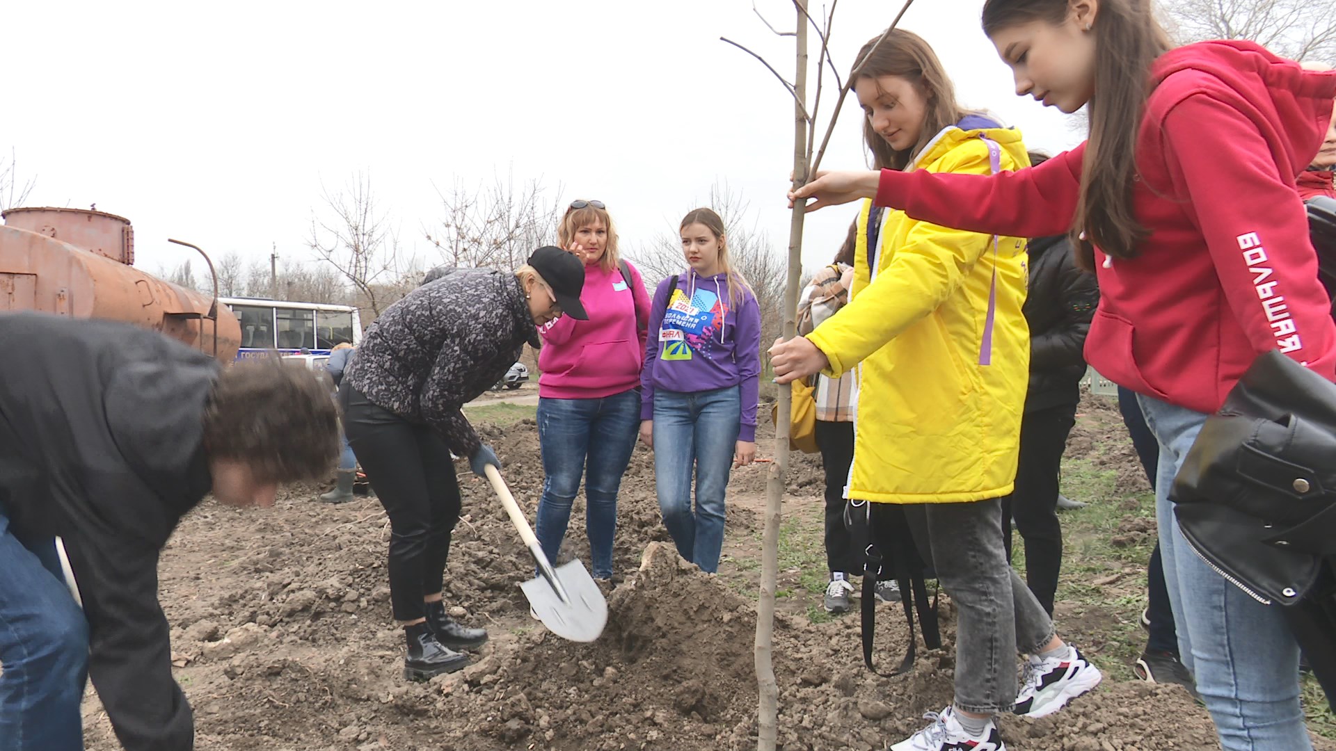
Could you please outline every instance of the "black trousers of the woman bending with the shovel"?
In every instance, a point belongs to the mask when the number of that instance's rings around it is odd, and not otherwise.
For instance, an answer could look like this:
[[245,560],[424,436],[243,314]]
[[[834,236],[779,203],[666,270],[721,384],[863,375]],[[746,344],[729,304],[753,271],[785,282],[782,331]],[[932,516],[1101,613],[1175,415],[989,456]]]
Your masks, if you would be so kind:
[[460,520],[460,482],[450,449],[430,428],[339,388],[343,428],[357,461],[390,517],[390,603],[394,620],[425,617],[425,595],[441,591],[450,532]]

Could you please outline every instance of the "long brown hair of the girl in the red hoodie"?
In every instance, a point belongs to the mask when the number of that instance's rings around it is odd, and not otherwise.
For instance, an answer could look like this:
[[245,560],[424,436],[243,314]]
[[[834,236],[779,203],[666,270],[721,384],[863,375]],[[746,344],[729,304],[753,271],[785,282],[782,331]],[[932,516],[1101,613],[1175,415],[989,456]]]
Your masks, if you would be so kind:
[[[1149,234],[1132,208],[1137,179],[1137,130],[1150,96],[1150,65],[1173,43],[1149,0],[1100,0],[1094,33],[1094,95],[1090,138],[1081,166],[1081,200],[1071,223],[1077,262],[1094,269],[1092,243],[1114,258],[1133,258]],[[1030,21],[1062,24],[1067,0],[987,0],[983,32]],[[1082,237],[1083,234],[1083,237]]]

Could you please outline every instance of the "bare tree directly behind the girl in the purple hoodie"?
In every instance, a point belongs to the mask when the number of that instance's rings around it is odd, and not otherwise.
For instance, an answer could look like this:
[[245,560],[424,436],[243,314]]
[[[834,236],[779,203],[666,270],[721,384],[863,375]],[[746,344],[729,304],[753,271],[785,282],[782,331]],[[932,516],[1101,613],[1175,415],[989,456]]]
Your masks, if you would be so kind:
[[[699,206],[701,204],[687,206],[681,212],[685,215]],[[759,229],[751,203],[741,194],[733,192],[728,183],[712,184],[709,200],[704,206],[713,208],[724,220],[728,258],[733,270],[740,273],[756,293],[756,305],[760,307],[760,342],[763,349],[768,347],[784,325],[787,258],[775,247],[770,234]],[[628,250],[625,254],[635,262],[651,291],[660,281],[681,273],[687,265],[676,223],[655,235],[648,243],[641,243],[635,253]]]

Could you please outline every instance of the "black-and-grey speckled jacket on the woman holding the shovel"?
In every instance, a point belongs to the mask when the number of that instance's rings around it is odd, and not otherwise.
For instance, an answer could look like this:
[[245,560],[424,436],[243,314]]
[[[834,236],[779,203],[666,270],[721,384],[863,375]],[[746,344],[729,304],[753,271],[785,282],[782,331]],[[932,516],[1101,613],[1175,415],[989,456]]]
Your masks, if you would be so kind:
[[371,404],[432,426],[468,457],[480,441],[460,409],[505,376],[525,342],[540,343],[520,281],[454,269],[386,309],[343,380]]

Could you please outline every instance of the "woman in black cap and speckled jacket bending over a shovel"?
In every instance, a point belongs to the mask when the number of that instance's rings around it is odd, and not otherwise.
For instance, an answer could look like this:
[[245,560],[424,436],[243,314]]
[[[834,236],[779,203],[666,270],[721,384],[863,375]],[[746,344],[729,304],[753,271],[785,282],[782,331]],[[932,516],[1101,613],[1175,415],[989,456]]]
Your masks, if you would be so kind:
[[349,444],[390,517],[390,601],[407,640],[403,675],[425,680],[462,668],[486,631],[466,628],[441,601],[460,485],[450,453],[481,477],[500,466],[461,408],[496,384],[538,326],[584,319],[584,263],[540,247],[514,274],[433,271],[367,330],[339,386]]

